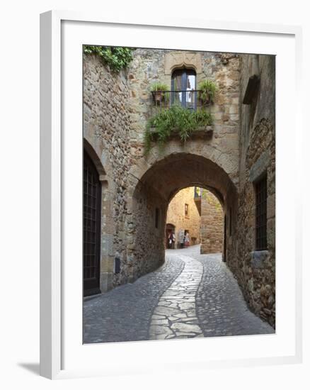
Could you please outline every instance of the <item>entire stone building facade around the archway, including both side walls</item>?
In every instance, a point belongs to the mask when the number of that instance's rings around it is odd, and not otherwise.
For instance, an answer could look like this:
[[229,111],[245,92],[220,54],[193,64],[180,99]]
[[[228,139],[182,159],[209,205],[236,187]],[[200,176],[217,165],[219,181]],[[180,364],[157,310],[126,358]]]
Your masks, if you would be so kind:
[[[163,264],[168,204],[180,189],[201,186],[222,205],[224,260],[248,305],[274,325],[274,67],[273,57],[263,55],[136,49],[129,67],[115,73],[96,55],[84,56],[84,151],[98,173],[91,180],[101,190],[101,218],[93,230],[100,233],[95,248],[100,261],[97,267],[90,260],[88,268],[99,275],[100,291]],[[212,134],[185,144],[171,138],[163,150],[154,144],[145,155],[144,131],[154,112],[151,84],[169,85],[175,69],[192,69],[196,86],[203,79],[217,84],[209,106]],[[253,72],[258,91],[245,105]],[[255,186],[265,172],[268,247],[256,251]],[[93,252],[86,255],[93,259]]]

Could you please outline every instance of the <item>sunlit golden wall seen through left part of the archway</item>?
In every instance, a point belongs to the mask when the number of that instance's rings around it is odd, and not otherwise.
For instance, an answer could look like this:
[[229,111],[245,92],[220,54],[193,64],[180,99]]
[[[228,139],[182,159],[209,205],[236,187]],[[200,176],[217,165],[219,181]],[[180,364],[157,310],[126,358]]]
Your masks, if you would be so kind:
[[[188,230],[190,245],[200,243],[200,214],[194,201],[194,189],[195,187],[181,189],[168,206],[166,223],[175,226],[175,247],[180,247],[180,230]],[[188,205],[187,216],[185,216],[185,204]]]

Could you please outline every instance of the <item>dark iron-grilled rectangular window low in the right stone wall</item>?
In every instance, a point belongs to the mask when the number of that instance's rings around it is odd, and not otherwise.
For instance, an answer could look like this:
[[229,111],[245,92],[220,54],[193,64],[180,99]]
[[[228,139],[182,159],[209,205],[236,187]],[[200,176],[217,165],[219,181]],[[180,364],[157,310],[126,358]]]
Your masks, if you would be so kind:
[[267,249],[267,176],[256,183],[256,250]]

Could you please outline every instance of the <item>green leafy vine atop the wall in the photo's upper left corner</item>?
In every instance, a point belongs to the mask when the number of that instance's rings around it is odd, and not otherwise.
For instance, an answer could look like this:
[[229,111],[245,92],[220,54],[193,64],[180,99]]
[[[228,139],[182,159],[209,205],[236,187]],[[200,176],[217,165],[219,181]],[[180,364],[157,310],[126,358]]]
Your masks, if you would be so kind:
[[84,54],[96,54],[101,57],[103,63],[109,65],[114,72],[125,69],[132,60],[132,48],[118,48],[113,46],[88,46],[84,45]]

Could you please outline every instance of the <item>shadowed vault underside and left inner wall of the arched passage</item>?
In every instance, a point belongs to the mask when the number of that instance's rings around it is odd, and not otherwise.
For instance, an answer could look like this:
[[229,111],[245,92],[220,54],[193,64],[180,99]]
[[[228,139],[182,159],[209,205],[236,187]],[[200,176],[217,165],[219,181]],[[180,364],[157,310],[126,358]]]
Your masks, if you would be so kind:
[[[186,152],[166,155],[136,179],[132,196],[131,245],[128,248],[132,258],[132,279],[163,264],[166,212],[178,190],[200,185],[217,194],[224,213],[228,207],[236,208],[237,189],[229,174],[202,155]],[[230,249],[227,247],[227,251]]]

